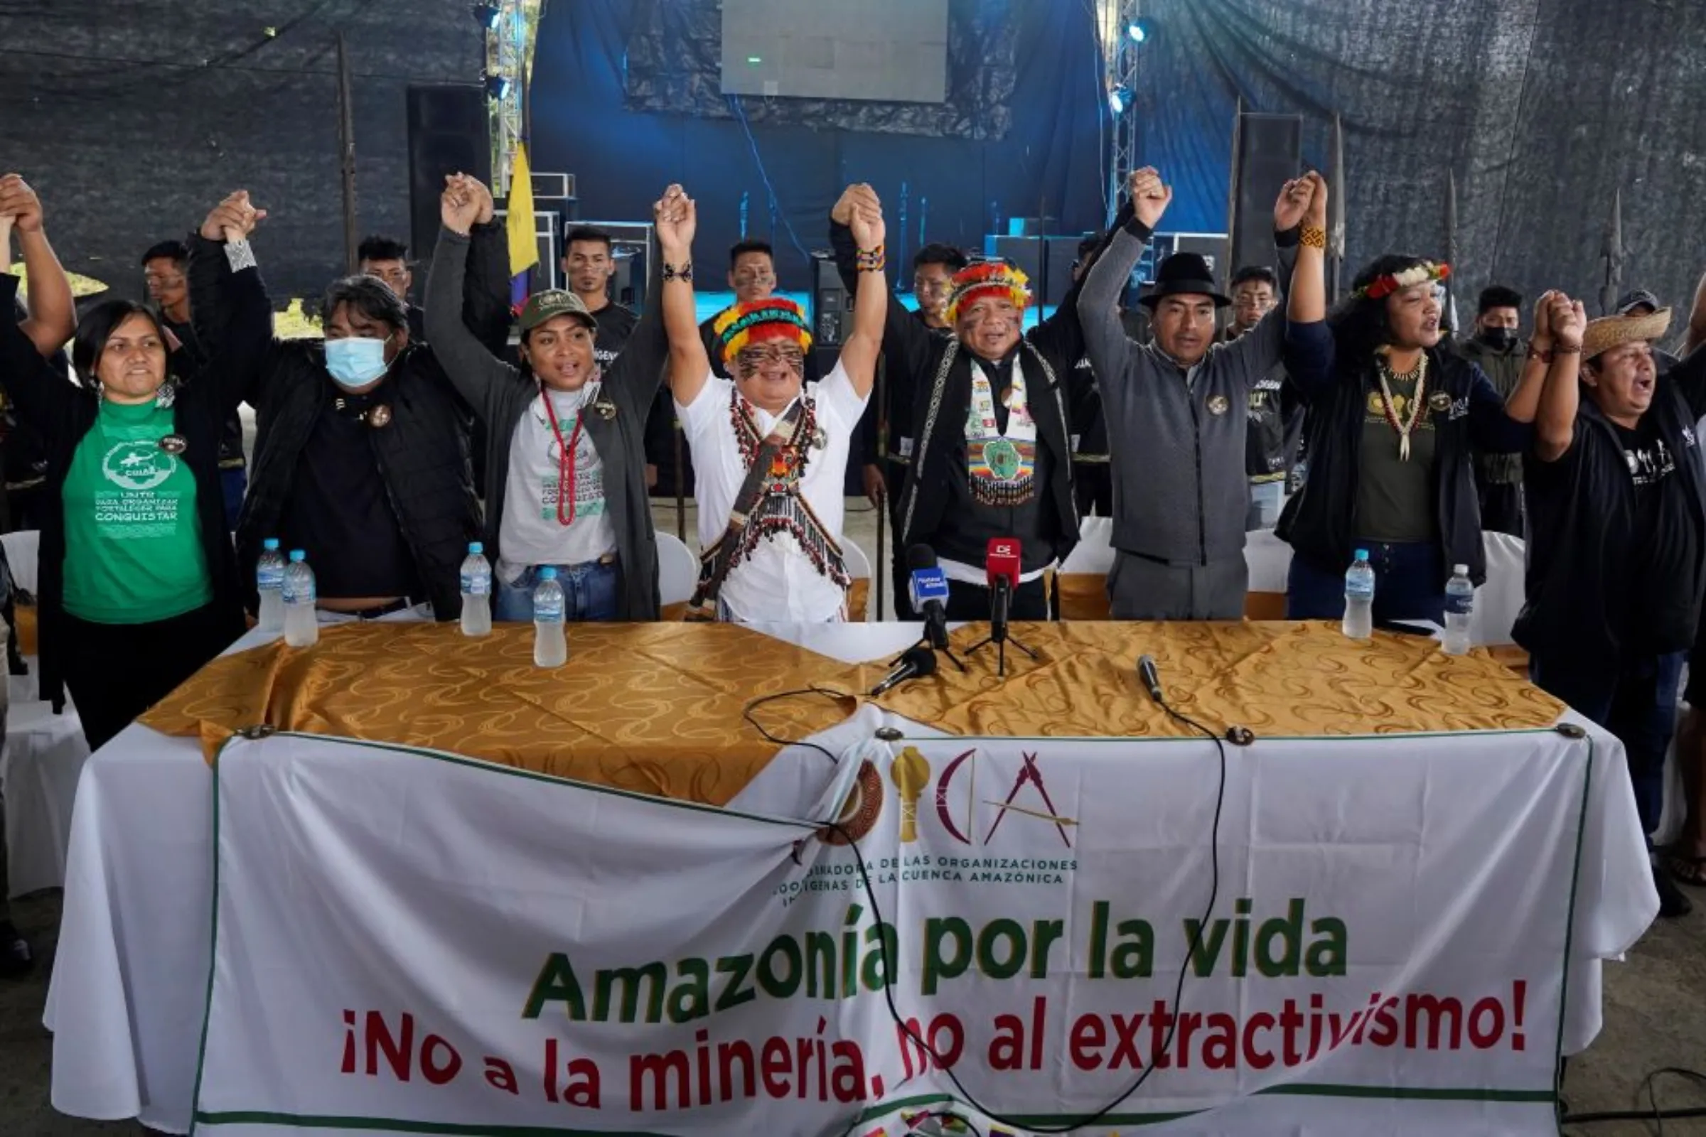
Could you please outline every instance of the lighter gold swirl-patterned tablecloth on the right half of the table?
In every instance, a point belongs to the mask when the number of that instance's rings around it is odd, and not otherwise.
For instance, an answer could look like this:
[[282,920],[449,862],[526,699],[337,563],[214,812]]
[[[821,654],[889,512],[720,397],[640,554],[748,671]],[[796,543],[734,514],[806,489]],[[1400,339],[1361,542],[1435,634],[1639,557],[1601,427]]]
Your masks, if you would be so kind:
[[[897,687],[882,706],[955,735],[1194,733],[1145,694],[1136,661],[1148,653],[1175,709],[1259,736],[1517,730],[1564,711],[1483,649],[1448,656],[1433,639],[1389,632],[1356,643],[1338,624],[1015,624],[1039,658],[1008,644],[1005,680],[995,648],[964,655],[986,632],[954,632],[966,673],[943,660],[935,680]],[[867,668],[867,690],[879,673]]]

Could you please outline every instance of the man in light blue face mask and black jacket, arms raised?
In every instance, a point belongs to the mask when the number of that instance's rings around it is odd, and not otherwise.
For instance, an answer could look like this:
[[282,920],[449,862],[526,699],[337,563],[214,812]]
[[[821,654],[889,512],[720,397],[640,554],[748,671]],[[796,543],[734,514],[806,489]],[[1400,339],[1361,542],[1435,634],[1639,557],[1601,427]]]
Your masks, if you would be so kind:
[[[251,600],[261,542],[278,537],[307,552],[324,612],[379,619],[430,603],[435,619],[456,619],[461,563],[481,535],[456,390],[432,349],[409,338],[403,300],[372,276],[328,286],[324,343],[273,339],[247,242],[261,218],[246,191],[234,193],[189,256],[196,331],[256,409],[237,522]],[[464,307],[490,314],[490,327],[469,326],[483,343],[508,317],[505,235],[491,218],[488,199],[473,227]]]

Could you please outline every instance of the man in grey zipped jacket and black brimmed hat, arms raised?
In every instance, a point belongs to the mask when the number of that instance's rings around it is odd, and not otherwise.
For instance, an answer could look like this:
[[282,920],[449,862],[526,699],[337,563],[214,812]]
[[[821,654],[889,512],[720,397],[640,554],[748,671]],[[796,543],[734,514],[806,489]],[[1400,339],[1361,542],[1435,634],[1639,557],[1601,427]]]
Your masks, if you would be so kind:
[[[1274,205],[1281,280],[1290,278],[1317,181],[1319,174],[1309,174],[1286,182]],[[1109,607],[1117,620],[1235,620],[1249,586],[1249,397],[1280,363],[1285,307],[1216,344],[1215,312],[1230,300],[1215,291],[1203,257],[1174,254],[1143,298],[1153,343],[1129,339],[1119,322],[1119,293],[1169,201],[1172,189],[1153,169],[1131,176],[1133,220],[1090,269],[1078,305],[1114,470]]]

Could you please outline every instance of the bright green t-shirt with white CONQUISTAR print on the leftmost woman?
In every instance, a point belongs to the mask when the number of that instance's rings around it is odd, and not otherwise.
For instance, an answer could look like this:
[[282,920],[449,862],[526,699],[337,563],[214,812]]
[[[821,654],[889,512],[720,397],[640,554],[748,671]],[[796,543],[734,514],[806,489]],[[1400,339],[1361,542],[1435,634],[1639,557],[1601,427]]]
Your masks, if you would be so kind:
[[65,610],[94,624],[148,624],[213,600],[196,477],[160,447],[172,411],[101,404],[65,476]]

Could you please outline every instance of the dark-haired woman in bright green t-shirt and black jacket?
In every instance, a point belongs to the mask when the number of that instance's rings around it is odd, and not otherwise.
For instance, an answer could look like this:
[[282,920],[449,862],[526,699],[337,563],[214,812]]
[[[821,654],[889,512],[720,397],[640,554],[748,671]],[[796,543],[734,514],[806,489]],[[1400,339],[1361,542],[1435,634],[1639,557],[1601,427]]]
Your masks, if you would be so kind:
[[[39,225],[31,194],[19,227]],[[68,295],[56,261],[32,257],[29,269]],[[0,276],[0,309],[17,283]],[[41,697],[63,709],[68,689],[97,750],[242,634],[218,472],[235,395],[218,384],[176,392],[165,331],[140,303],[107,300],[77,326],[82,385],[39,355],[58,351],[63,332],[31,341],[27,331],[0,320],[7,394],[46,440]]]

